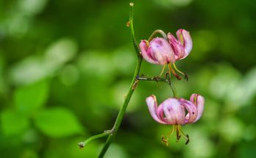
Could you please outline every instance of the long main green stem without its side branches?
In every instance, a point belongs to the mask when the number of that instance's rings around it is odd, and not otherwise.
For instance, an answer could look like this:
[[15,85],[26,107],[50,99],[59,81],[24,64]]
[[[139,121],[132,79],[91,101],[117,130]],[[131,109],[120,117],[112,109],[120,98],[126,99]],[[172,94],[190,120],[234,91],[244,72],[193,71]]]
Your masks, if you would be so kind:
[[118,117],[115,120],[115,124],[114,124],[113,129],[112,129],[113,133],[110,134],[107,137],[107,141],[104,144],[104,146],[102,148],[102,151],[99,154],[99,158],[104,157],[105,153],[107,152],[107,149],[109,148],[110,144],[112,143],[113,139],[115,138],[115,135],[118,132],[118,129],[121,125],[121,121],[124,118],[124,113],[127,109],[127,105],[129,104],[129,100],[132,97],[132,94],[135,90],[135,84],[136,84],[136,81],[137,81],[137,76],[138,76],[138,74],[140,72],[140,69],[141,69],[142,57],[141,57],[140,51],[138,49],[138,45],[137,45],[136,40],[135,40],[135,33],[134,33],[134,29],[133,29],[133,3],[130,3],[129,7],[130,7],[130,10],[129,10],[129,27],[130,27],[130,31],[131,31],[131,34],[132,34],[133,46],[135,48],[138,60],[137,60],[137,65],[136,65],[136,68],[135,68],[135,72],[134,72],[134,75],[133,75],[133,78],[132,78],[131,85],[129,86],[127,96],[124,99],[124,103],[122,104],[121,109],[118,113]]

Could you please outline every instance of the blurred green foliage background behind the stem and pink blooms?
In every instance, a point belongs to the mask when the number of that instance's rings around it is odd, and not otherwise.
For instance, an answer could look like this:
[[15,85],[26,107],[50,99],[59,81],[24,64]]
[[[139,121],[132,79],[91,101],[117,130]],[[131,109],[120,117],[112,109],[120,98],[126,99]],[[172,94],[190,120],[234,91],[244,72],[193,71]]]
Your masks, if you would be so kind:
[[[135,69],[127,0],[0,0],[1,157],[96,157]],[[107,158],[254,157],[256,154],[256,3],[251,0],[135,1],[135,34],[187,29],[191,54],[177,62],[189,81],[179,96],[205,96],[191,137],[163,146],[171,126],[156,123],[145,98],[172,96],[165,83],[139,82]],[[143,62],[156,76],[159,65]],[[175,79],[174,79],[175,80]]]

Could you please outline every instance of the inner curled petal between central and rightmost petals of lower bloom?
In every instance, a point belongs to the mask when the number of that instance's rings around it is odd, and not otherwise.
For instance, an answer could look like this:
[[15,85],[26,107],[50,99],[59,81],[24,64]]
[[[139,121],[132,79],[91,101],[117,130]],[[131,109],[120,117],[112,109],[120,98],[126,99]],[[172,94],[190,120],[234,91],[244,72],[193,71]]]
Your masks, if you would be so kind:
[[198,115],[196,105],[193,104],[193,102],[191,102],[191,101],[185,100],[184,98],[179,98],[179,102],[188,111],[188,114],[185,116],[185,123],[193,123],[193,121],[196,120],[196,117]]

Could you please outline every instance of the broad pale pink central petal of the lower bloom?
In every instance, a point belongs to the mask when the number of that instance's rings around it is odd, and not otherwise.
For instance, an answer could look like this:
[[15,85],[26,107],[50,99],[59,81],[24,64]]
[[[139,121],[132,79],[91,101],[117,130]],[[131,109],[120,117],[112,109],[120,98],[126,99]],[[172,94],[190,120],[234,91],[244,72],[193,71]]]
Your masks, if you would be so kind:
[[166,115],[168,124],[185,123],[185,109],[176,98],[168,98],[161,105],[163,105],[163,112]]

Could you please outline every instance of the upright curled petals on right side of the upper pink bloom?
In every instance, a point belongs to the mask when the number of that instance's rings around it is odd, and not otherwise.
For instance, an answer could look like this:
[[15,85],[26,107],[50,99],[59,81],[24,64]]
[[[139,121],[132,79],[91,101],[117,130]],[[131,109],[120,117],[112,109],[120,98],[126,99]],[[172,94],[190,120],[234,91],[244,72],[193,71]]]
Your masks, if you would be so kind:
[[182,60],[190,54],[193,46],[191,35],[185,29],[179,29],[176,32],[178,40],[168,33],[168,40],[171,44],[171,47],[174,49],[175,60]]

